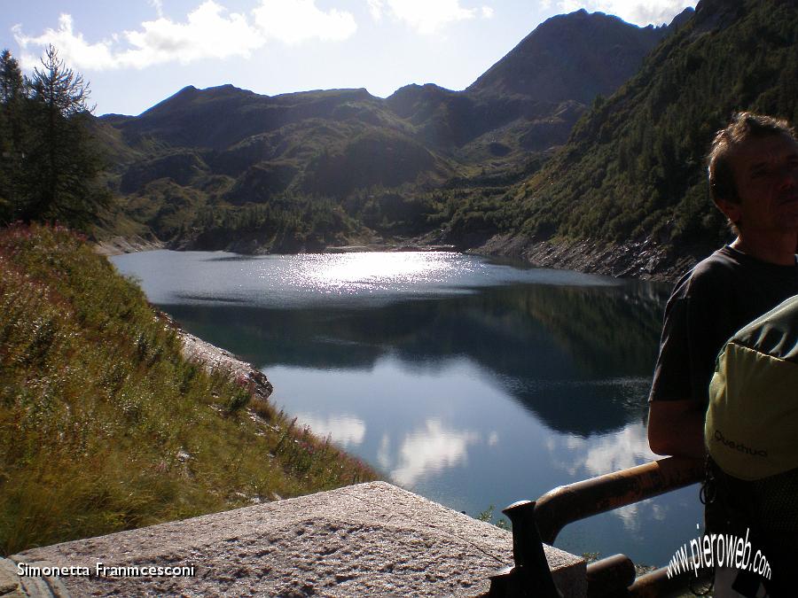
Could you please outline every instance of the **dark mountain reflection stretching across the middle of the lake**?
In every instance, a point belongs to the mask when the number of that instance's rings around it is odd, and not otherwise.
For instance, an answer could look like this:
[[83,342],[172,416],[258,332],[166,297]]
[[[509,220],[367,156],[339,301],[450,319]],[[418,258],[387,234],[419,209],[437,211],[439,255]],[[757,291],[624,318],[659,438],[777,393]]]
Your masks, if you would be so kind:
[[466,357],[552,430],[581,436],[640,421],[661,327],[661,301],[628,287],[519,284],[371,309],[161,307],[267,374]]

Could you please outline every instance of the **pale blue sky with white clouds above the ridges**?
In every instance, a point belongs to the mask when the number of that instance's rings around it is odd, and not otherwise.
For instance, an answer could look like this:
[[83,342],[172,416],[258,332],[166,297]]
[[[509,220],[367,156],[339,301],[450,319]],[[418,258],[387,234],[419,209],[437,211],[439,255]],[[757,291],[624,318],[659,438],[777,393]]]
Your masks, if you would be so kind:
[[187,85],[274,96],[409,83],[465,89],[537,25],[580,8],[645,27],[688,0],[0,0],[0,48],[33,72],[52,43],[94,113],[139,114]]

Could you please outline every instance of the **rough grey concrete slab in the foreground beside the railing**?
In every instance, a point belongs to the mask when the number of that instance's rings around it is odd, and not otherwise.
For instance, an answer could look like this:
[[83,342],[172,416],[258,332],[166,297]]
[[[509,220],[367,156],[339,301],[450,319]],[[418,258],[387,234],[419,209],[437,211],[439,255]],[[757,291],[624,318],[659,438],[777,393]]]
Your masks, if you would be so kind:
[[[546,556],[563,593],[585,595],[583,559],[549,547]],[[488,591],[491,574],[512,565],[512,535],[372,482],[12,559],[88,567],[89,576],[60,578],[73,596],[475,596]],[[188,569],[176,577],[124,570],[151,566]]]

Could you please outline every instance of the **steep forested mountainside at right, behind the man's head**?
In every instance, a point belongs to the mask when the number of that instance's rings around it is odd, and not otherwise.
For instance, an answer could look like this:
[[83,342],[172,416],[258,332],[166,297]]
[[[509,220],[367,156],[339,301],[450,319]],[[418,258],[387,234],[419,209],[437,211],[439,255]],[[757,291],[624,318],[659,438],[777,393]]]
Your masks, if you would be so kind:
[[489,206],[492,251],[544,265],[676,276],[728,237],[708,197],[708,144],[732,113],[798,121],[798,8],[702,0],[560,151]]

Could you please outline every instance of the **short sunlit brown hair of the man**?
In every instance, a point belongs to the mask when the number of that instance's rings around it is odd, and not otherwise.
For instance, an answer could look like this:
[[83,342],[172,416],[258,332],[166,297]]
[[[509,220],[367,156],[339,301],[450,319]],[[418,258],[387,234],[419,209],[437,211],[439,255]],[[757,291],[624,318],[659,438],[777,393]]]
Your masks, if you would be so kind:
[[795,140],[795,131],[789,122],[755,113],[736,113],[732,122],[716,133],[708,155],[709,193],[716,204],[718,199],[739,203],[732,169],[733,151],[750,139],[771,135],[787,135]]

